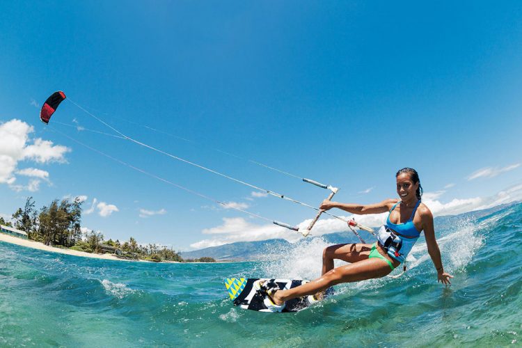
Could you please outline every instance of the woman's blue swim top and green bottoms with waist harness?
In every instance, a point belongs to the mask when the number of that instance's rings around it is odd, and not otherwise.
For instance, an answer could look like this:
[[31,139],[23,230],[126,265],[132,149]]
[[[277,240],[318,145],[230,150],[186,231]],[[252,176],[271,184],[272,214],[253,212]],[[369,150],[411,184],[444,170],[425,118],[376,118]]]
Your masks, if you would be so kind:
[[[395,203],[395,205],[390,209],[390,214],[399,203],[400,201]],[[388,255],[401,263],[406,261],[406,256],[410,253],[411,248],[413,248],[413,245],[417,242],[417,239],[420,236],[420,232],[413,224],[413,216],[415,216],[419,205],[420,200],[418,200],[416,206],[413,208],[410,218],[405,223],[392,223],[390,221],[390,214],[388,214],[386,225],[381,226],[379,234],[377,235],[379,244],[384,248],[384,250],[386,250]],[[377,250],[377,243],[372,244],[372,249],[368,258],[380,258],[381,260],[388,262],[388,265],[392,270],[395,268],[390,260],[379,253]]]

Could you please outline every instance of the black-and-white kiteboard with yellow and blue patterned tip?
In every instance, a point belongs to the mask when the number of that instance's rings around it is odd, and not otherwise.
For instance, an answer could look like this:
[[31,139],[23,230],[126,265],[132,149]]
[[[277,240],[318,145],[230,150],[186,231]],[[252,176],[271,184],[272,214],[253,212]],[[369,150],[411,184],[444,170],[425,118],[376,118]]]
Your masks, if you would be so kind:
[[[225,279],[225,286],[234,306],[238,306],[242,309],[257,310],[258,312],[272,312],[267,308],[267,306],[264,306],[263,303],[264,297],[267,295],[260,291],[256,291],[253,287],[255,280],[259,279],[260,278]],[[270,281],[277,283],[281,290],[292,289],[293,287],[298,287],[299,285],[308,283],[308,280],[292,279],[270,279]],[[331,288],[327,292],[329,295],[332,294]],[[307,296],[303,296],[286,301],[286,306],[282,312],[297,312],[298,310],[310,306],[306,297]]]

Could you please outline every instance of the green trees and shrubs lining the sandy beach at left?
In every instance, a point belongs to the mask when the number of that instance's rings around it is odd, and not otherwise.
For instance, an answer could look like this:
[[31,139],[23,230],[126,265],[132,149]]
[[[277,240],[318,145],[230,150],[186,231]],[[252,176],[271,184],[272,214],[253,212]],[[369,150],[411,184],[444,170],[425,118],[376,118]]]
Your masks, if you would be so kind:
[[[58,248],[70,248],[86,253],[114,253],[118,258],[148,260],[152,262],[216,262],[213,258],[183,260],[179,252],[156,244],[140,245],[133,237],[128,242],[118,239],[104,240],[101,232],[81,231],[81,200],[53,200],[38,212],[33,197],[26,200],[24,208],[13,214],[13,223],[0,218],[0,224],[25,231],[29,239]],[[14,225],[14,226],[13,226]]]

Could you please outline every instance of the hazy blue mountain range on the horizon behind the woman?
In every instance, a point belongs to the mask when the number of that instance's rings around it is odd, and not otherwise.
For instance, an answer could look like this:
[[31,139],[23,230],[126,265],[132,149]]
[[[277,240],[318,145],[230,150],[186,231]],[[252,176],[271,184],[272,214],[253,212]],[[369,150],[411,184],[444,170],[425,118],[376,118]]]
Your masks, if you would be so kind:
[[[480,219],[481,217],[493,214],[499,210],[519,203],[520,202],[503,204],[489,209],[477,210],[475,212],[467,212],[459,215],[438,216],[434,219],[435,228],[445,229],[454,225],[455,221],[460,221],[463,219]],[[359,233],[363,239],[367,240],[367,242],[374,241],[373,237],[371,237],[367,232],[359,231]],[[322,238],[326,243],[329,244],[359,242],[357,237],[355,237],[355,235],[349,231],[329,233],[328,235],[312,238]],[[285,239],[267,239],[258,242],[235,242],[195,251],[184,251],[181,253],[181,255],[182,258],[185,259],[203,258],[207,256],[216,260],[253,261],[262,260],[264,255],[273,252],[274,249],[286,250],[287,246],[290,246],[290,242],[287,242]]]

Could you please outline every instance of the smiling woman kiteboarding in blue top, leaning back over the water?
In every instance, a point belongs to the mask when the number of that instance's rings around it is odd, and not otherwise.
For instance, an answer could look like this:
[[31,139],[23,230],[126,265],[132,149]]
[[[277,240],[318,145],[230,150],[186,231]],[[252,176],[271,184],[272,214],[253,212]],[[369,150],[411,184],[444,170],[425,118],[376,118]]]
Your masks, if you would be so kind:
[[[324,200],[320,209],[338,208],[351,214],[379,214],[389,212],[386,226],[379,230],[378,242],[374,244],[338,244],[323,252],[322,276],[290,290],[280,290],[275,283],[259,280],[255,287],[267,294],[264,304],[273,311],[283,310],[285,301],[308,296],[310,302],[317,301],[319,294],[332,285],[360,280],[381,278],[406,260],[406,256],[424,232],[429,256],[435,265],[438,281],[450,285],[448,273],[444,272],[441,252],[435,239],[433,215],[428,207],[420,203],[422,187],[416,170],[403,168],[395,175],[400,199],[383,200],[372,205],[336,203]],[[333,268],[333,260],[350,262]]]

